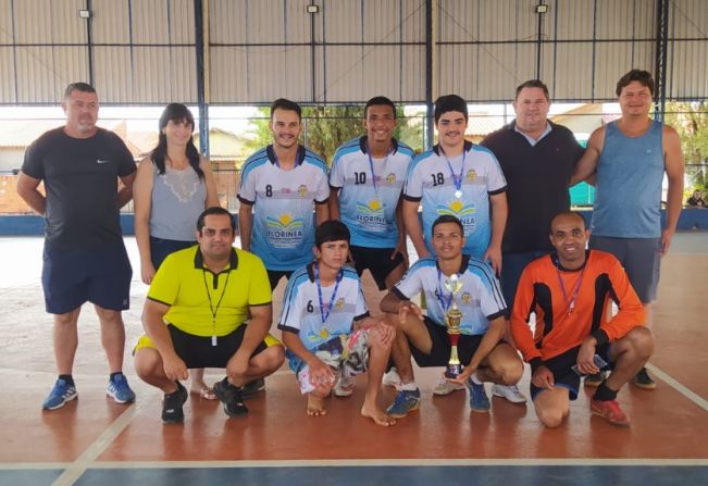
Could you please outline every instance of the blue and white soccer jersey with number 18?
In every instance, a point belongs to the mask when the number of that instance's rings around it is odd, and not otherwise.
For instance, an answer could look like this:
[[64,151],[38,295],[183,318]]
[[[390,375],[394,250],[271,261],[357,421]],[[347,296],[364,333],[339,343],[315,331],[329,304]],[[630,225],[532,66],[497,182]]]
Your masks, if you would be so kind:
[[[403,197],[409,201],[422,200],[423,238],[431,254],[434,254],[433,222],[443,214],[450,214],[464,226],[467,244],[462,251],[482,258],[492,236],[489,196],[505,192],[507,180],[494,153],[469,141],[464,142],[463,154],[450,158],[449,162],[448,165],[439,146],[413,159],[406,176]],[[459,198],[455,195],[458,174],[461,174],[462,192]]]

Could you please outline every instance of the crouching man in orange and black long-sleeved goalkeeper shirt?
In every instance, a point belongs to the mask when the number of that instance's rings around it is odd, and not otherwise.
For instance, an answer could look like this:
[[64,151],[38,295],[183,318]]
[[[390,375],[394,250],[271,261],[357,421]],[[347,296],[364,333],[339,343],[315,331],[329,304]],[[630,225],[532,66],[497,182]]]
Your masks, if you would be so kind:
[[[581,375],[611,369],[591,399],[592,413],[613,425],[630,420],[617,394],[654,350],[644,309],[614,257],[585,250],[589,232],[585,220],[566,211],[550,223],[555,253],[526,265],[511,314],[513,338],[531,364],[531,398],[536,415],[557,427],[577,398]],[[606,319],[603,309],[613,300],[620,311]],[[537,315],[535,332],[529,326]]]

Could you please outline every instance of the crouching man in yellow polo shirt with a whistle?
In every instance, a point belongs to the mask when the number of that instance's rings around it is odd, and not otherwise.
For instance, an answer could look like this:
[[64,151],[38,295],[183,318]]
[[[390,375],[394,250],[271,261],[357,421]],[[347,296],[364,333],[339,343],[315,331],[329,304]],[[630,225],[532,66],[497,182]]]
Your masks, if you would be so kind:
[[187,390],[179,379],[187,379],[188,369],[226,369],[214,392],[227,415],[243,416],[244,385],[283,363],[283,345],[269,334],[273,309],[265,266],[233,247],[235,229],[228,211],[209,208],[197,221],[198,245],[169,256],[150,285],[135,369],[164,392],[165,423],[184,420]]

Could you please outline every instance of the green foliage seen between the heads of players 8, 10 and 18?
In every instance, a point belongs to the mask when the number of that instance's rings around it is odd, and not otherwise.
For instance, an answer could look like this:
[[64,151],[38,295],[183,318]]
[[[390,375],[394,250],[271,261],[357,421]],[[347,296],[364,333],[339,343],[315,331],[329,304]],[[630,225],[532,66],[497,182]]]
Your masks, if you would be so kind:
[[[331,163],[337,147],[367,133],[362,117],[363,107],[305,107],[300,142]],[[251,128],[241,137],[246,153],[253,153],[273,142],[269,123],[270,109],[259,108]],[[422,117],[406,119],[399,112],[394,137],[421,151],[422,126]]]

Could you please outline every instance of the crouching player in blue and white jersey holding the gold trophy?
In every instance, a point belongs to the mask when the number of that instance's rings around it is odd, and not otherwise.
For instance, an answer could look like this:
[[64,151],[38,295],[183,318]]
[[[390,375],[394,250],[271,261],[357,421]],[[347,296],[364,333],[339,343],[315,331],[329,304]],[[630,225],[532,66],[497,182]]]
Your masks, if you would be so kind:
[[[392,356],[401,385],[387,410],[394,418],[402,418],[420,407],[411,356],[423,367],[445,366],[449,361],[445,314],[452,296],[445,282],[451,275],[457,275],[462,286],[456,301],[462,312],[458,352],[464,370],[450,382],[467,386],[472,411],[487,412],[490,406],[484,382],[514,385],[523,373],[519,354],[502,339],[507,306],[492,269],[462,253],[462,223],[448,214],[439,216],[433,223],[431,241],[436,258],[417,261],[381,302],[381,310],[388,313],[387,321],[397,327]],[[418,294],[425,296],[426,315],[410,300]]]

